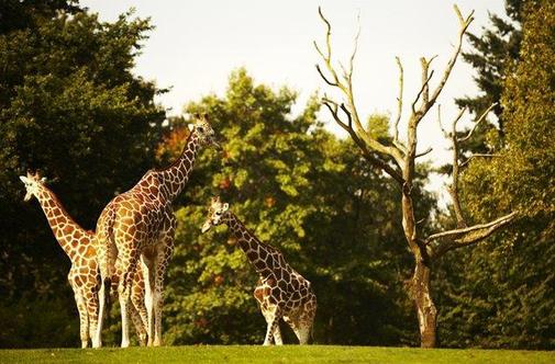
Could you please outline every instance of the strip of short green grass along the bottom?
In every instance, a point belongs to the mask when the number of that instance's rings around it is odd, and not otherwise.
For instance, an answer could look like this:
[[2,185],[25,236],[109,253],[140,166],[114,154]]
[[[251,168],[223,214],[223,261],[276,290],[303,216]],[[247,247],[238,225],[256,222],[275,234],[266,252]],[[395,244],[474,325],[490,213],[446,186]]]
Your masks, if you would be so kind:
[[555,352],[371,346],[0,350],[0,363],[555,363]]

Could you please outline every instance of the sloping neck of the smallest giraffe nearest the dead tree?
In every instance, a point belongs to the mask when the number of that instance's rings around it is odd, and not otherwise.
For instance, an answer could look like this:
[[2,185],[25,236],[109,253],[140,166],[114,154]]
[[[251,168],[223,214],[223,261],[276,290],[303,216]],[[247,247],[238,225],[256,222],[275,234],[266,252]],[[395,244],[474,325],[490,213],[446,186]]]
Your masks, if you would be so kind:
[[277,249],[260,242],[233,213],[226,212],[222,218],[258,274],[266,276],[276,270],[277,262],[274,260],[278,259]]

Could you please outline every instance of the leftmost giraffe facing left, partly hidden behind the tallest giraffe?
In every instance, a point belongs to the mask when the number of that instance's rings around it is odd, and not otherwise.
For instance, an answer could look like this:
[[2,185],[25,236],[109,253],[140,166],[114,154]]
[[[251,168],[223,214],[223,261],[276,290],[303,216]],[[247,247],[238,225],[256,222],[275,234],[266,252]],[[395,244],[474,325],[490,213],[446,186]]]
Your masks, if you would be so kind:
[[[81,348],[87,348],[89,339],[96,334],[98,325],[98,288],[100,271],[97,262],[97,250],[93,244],[95,232],[85,230],[67,214],[56,194],[45,185],[45,178],[38,173],[21,175],[25,184],[24,201],[36,197],[46,215],[48,225],[59,246],[71,261],[67,275],[74,291],[79,312]],[[133,281],[133,323],[141,344],[146,343],[146,308],[144,306],[144,282],[141,272]]]

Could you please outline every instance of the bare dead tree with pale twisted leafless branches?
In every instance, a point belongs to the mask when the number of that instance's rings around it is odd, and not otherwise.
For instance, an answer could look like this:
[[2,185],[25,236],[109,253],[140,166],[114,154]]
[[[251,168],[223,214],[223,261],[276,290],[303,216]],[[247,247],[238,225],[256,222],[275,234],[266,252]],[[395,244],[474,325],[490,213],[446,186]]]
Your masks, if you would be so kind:
[[[447,82],[447,79],[453,70],[453,66],[460,53],[464,35],[474,20],[474,11],[465,18],[462,15],[456,5],[454,9],[459,22],[459,31],[453,55],[447,61],[443,70],[443,75],[435,88],[432,88],[430,83],[434,75],[434,70],[431,70],[430,66],[435,57],[430,59],[420,59],[422,68],[422,83],[420,91],[417,93],[411,103],[411,112],[407,121],[404,140],[401,140],[399,137],[399,125],[402,117],[403,105],[403,67],[401,60],[398,57],[396,58],[397,66],[399,68],[399,96],[397,98],[397,115],[391,122],[392,140],[391,143],[385,144],[384,141],[379,141],[373,137],[371,133],[365,129],[355,104],[355,96],[353,94],[353,64],[357,50],[358,34],[355,37],[355,46],[349,58],[348,67],[345,68],[340,64],[341,72],[337,71],[332,59],[332,26],[328,19],[323,15],[320,8],[319,14],[326,29],[324,48],[319,47],[318,43],[314,42],[314,47],[322,58],[324,68],[322,69],[320,65],[317,65],[318,72],[329,87],[338,90],[342,95],[341,101],[335,101],[328,95],[324,95],[322,99],[323,104],[332,114],[333,120],[348,133],[368,163],[389,174],[400,186],[402,227],[409,249],[414,257],[414,272],[409,293],[411,298],[414,300],[417,308],[422,348],[434,348],[436,342],[437,310],[431,295],[431,272],[433,262],[451,250],[473,246],[482,241],[495,231],[511,223],[517,215],[517,213],[511,213],[493,221],[468,227],[460,206],[460,200],[458,197],[458,179],[460,170],[471,158],[476,158],[478,156],[490,157],[489,155],[475,155],[460,162],[459,160],[462,156],[459,156],[459,145],[470,138],[471,134],[476,129],[476,126],[486,118],[487,114],[493,106],[492,105],[484,112],[484,114],[477,120],[475,126],[464,137],[457,136],[456,127],[465,110],[462,110],[452,123],[451,132],[447,133],[442,127],[444,135],[451,140],[453,148],[453,172],[448,192],[453,201],[456,229],[425,237],[422,236],[423,234],[421,231],[421,227],[418,225],[414,217],[414,204],[417,201],[413,200],[412,190],[414,186],[415,160],[417,158],[431,151],[431,148],[423,152],[417,151],[417,129],[423,117],[437,101],[443,87]],[[439,121],[441,125],[441,112],[439,113]]]

